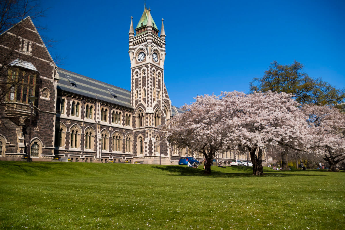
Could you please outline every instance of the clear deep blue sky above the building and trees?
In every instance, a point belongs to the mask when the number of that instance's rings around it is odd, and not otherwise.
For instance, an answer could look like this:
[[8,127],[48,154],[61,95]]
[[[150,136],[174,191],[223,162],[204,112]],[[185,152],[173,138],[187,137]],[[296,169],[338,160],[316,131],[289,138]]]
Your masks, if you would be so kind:
[[[313,78],[345,87],[344,1],[147,0],[166,33],[165,84],[175,106],[196,95],[248,92],[270,62],[305,65]],[[34,21],[58,42],[50,50],[64,69],[130,89],[128,31],[140,1],[42,1],[46,17]]]

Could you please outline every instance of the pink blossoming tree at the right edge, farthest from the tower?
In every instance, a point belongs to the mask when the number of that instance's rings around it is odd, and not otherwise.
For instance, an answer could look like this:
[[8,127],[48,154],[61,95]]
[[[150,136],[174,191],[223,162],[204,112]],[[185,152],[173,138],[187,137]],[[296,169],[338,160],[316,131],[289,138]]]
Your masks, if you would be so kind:
[[330,171],[345,160],[345,114],[329,106],[306,105],[303,111],[311,125],[310,152],[322,154]]

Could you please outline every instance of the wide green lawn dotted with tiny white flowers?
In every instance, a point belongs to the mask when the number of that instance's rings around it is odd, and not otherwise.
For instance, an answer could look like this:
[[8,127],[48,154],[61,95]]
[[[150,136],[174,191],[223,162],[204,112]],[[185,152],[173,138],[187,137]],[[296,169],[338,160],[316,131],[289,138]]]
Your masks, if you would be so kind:
[[345,229],[345,173],[251,173],[2,161],[0,229]]

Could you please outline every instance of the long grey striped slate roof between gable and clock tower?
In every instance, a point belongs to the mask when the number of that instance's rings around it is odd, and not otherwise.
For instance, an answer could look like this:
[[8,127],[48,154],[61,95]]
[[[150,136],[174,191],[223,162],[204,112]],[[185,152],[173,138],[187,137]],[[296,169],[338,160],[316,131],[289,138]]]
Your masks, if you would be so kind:
[[58,73],[60,77],[58,90],[133,109],[130,103],[130,91],[126,89],[61,68],[58,68]]

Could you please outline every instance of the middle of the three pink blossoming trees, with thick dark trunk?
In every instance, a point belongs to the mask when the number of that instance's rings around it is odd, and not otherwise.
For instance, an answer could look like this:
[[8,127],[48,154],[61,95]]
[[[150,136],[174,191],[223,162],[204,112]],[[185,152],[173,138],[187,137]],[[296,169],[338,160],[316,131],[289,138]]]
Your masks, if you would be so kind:
[[[263,175],[265,148],[280,144],[284,148],[300,150],[300,146],[306,146],[306,118],[291,94],[234,91],[223,93],[221,101],[229,118],[225,125],[228,143],[249,151],[253,175]],[[283,167],[287,168],[287,164]]]

